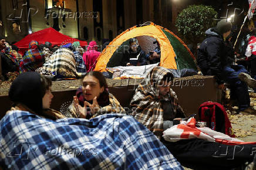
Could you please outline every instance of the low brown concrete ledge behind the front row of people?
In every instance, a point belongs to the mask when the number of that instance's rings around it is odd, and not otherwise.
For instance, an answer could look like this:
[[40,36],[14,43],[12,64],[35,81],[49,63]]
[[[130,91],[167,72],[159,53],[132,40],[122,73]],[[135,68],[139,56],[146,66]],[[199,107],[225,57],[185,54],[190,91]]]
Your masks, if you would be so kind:
[[[117,83],[117,86],[109,84],[109,91],[117,98],[117,100],[119,100],[123,107],[129,107],[139,82],[130,84],[127,83],[127,80],[117,80],[117,82],[118,81],[122,82]],[[174,79],[171,88],[176,92],[179,103],[187,115],[197,113],[200,104],[205,101],[215,101],[220,103],[221,100],[213,76],[204,76],[203,78],[198,79],[190,79],[189,77]],[[76,89],[53,91],[52,93],[54,97],[52,99],[51,108],[59,110],[63,103],[72,101]],[[2,118],[6,111],[11,108],[11,101],[8,96],[5,95],[0,96],[0,103],[0,118]]]

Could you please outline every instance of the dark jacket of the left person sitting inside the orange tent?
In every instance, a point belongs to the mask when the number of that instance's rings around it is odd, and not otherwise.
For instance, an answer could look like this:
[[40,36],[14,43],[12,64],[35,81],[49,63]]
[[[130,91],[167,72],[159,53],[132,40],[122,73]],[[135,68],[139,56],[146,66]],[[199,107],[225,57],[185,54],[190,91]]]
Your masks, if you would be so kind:
[[[146,65],[146,53],[142,50],[142,47],[138,46],[137,52],[132,52],[132,50],[129,49],[123,53],[122,66],[126,66],[127,63],[130,63],[130,58],[136,58],[138,55],[137,64],[139,63],[140,66]],[[136,66],[137,64],[133,64],[133,66]]]

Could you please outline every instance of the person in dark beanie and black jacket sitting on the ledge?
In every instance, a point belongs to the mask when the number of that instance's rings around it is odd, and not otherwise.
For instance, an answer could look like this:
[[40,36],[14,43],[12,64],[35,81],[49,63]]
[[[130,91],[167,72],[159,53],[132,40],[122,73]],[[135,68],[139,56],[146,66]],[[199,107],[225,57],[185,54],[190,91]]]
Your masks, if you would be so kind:
[[223,19],[215,28],[206,30],[207,38],[203,40],[197,50],[197,64],[204,75],[215,76],[218,89],[225,90],[224,83],[230,84],[232,99],[237,100],[238,112],[256,113],[250,107],[250,96],[246,82],[238,77],[240,73],[247,73],[244,66],[231,64],[228,61],[228,48],[225,39],[231,33],[231,22]]

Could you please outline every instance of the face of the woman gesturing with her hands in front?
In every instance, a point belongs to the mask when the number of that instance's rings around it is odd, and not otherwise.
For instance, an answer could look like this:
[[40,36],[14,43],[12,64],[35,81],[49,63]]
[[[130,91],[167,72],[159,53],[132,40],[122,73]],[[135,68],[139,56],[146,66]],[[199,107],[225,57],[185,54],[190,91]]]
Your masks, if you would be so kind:
[[94,76],[85,76],[83,78],[83,96],[85,100],[90,101],[93,98],[99,97],[100,94],[104,91],[104,87],[100,87],[99,80]]

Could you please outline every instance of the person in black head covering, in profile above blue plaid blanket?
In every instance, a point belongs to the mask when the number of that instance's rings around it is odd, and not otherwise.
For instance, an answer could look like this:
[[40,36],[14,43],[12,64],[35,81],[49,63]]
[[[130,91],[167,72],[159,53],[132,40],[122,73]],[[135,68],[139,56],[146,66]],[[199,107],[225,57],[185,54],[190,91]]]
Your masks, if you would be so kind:
[[12,83],[9,98],[14,102],[11,110],[28,111],[45,118],[56,120],[64,116],[50,108],[52,81],[36,72],[20,74]]

